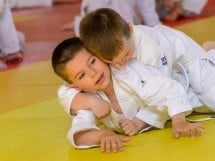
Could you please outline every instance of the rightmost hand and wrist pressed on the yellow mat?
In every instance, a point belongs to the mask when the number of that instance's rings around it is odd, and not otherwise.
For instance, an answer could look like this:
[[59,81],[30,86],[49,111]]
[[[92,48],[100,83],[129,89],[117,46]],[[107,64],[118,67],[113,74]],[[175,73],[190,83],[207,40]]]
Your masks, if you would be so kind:
[[185,120],[185,113],[179,113],[172,117],[172,134],[174,138],[182,136],[200,136],[203,125],[200,123],[190,123]]

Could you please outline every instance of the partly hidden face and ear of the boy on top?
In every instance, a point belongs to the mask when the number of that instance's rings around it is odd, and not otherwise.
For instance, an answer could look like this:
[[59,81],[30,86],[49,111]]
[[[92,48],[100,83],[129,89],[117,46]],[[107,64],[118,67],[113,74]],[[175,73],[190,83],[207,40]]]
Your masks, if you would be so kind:
[[122,50],[119,52],[118,56],[113,58],[112,61],[106,61],[117,68],[123,67],[128,64],[128,62],[132,59],[135,51],[135,45],[133,37],[131,36],[129,39],[123,39]]

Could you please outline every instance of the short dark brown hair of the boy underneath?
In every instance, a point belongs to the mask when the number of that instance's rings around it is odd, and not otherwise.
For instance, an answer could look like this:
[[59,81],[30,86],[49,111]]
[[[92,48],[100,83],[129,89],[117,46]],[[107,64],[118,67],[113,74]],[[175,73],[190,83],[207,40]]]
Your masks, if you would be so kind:
[[84,43],[78,38],[73,37],[60,42],[52,54],[52,68],[59,77],[71,83],[65,71],[66,64],[74,59],[76,54],[84,49]]

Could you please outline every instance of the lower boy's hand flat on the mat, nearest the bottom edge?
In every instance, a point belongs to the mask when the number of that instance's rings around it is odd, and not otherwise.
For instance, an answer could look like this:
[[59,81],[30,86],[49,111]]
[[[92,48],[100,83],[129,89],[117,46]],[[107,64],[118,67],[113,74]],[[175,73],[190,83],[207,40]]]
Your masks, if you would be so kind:
[[118,152],[123,150],[123,142],[128,142],[129,137],[123,137],[113,132],[105,132],[100,139],[102,152]]

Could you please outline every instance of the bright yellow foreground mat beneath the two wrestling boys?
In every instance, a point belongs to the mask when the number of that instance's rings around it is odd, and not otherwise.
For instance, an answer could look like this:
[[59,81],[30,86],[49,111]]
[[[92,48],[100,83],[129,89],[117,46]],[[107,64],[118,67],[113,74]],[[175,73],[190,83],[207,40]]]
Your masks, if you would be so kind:
[[204,122],[198,138],[171,137],[171,128],[134,136],[125,150],[103,154],[99,148],[76,150],[66,140],[70,119],[57,99],[42,101],[0,116],[2,161],[214,161],[214,121]]

